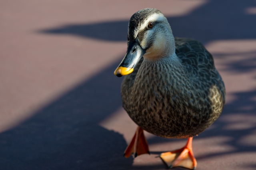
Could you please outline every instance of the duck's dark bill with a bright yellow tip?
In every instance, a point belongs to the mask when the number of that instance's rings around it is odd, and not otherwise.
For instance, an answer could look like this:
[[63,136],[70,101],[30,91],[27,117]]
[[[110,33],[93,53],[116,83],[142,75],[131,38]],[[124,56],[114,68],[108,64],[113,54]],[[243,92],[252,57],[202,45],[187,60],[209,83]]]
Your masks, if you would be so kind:
[[116,68],[114,74],[118,77],[121,77],[133,72],[133,69],[140,61],[140,58],[142,58],[142,56],[145,54],[145,52],[146,50],[140,46],[140,41],[138,38],[136,38],[134,41],[128,42],[128,48],[124,59]]

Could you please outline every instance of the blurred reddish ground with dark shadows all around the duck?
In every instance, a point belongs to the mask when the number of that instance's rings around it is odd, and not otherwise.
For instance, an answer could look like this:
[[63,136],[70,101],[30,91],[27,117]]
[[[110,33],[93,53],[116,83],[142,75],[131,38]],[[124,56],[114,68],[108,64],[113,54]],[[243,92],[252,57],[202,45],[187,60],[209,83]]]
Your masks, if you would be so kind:
[[256,169],[256,0],[1,0],[1,170],[166,169],[155,157],[186,140],[146,133],[151,155],[122,156],[136,125],[113,72],[143,8],[201,41],[225,82],[222,115],[193,140],[197,169]]

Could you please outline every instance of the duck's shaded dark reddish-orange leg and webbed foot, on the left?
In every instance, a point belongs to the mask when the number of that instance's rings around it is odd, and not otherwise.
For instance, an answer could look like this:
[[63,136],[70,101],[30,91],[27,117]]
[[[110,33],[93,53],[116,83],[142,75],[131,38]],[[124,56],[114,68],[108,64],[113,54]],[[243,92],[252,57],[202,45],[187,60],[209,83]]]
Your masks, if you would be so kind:
[[124,157],[128,158],[132,153],[134,153],[134,157],[141,154],[150,154],[148,150],[148,142],[144,136],[143,129],[139,126],[132,138],[132,141],[124,151]]

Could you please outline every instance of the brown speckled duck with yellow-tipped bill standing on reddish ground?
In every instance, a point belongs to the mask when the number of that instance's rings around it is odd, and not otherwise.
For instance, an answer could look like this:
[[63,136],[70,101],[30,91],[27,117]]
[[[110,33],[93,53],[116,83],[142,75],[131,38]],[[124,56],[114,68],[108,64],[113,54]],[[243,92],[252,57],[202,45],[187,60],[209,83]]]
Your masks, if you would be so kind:
[[174,38],[160,10],[145,8],[128,23],[127,51],[114,71],[124,76],[122,106],[138,125],[124,157],[150,154],[144,130],[164,138],[187,138],[184,147],[159,156],[168,166],[195,169],[192,139],[220,116],[224,82],[203,44]]

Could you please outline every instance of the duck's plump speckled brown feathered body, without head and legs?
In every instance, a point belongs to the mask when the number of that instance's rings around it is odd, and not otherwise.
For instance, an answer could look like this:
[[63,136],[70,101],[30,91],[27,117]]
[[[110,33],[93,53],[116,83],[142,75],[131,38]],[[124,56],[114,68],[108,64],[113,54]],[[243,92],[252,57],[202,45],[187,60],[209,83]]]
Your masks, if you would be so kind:
[[125,76],[122,104],[144,130],[166,138],[203,132],[221,114],[224,83],[212,55],[192,39],[175,38],[176,59],[140,60]]

